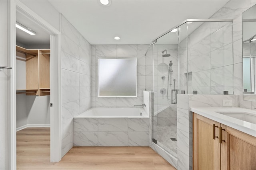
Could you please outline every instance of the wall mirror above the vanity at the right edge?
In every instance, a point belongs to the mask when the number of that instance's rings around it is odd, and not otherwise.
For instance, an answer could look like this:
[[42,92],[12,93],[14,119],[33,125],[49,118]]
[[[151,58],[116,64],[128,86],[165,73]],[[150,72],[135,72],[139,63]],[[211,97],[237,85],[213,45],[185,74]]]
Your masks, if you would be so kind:
[[256,102],[256,5],[242,14],[243,25],[243,98]]

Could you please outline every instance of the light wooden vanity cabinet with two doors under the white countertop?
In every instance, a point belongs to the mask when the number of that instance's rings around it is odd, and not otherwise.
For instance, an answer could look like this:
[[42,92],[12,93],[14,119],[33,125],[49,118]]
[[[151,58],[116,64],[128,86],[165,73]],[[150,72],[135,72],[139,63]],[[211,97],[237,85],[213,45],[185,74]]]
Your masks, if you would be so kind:
[[193,113],[194,170],[256,170],[256,138]]

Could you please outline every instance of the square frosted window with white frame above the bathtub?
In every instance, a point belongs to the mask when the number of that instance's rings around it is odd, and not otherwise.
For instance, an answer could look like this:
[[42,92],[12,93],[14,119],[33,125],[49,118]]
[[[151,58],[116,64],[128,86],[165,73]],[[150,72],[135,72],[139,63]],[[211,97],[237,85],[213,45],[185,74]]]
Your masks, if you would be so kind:
[[98,58],[98,97],[137,97],[137,59]]

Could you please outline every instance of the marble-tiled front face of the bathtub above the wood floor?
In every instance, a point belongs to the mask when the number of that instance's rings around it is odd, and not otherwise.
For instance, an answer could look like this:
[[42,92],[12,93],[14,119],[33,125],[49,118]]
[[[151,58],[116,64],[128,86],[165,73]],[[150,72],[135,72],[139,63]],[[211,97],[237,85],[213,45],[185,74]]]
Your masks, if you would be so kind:
[[74,118],[74,146],[148,146],[149,118]]

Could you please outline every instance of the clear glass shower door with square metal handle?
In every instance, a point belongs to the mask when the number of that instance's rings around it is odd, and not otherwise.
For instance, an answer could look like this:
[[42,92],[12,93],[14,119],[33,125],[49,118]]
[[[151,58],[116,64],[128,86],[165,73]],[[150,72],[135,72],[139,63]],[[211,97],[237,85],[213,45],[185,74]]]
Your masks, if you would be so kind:
[[153,51],[153,141],[177,156],[178,31],[158,38]]

